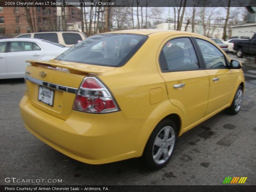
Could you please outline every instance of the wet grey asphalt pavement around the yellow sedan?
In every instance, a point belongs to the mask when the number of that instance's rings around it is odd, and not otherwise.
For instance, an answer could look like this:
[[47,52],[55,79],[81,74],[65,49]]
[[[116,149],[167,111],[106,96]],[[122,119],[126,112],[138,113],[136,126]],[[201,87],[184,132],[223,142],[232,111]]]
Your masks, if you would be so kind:
[[[154,172],[137,159],[89,165],[54,150],[23,126],[23,79],[0,80],[0,185],[222,185],[226,177],[248,177],[244,185],[256,185],[256,64],[241,61],[246,80],[241,111],[220,112],[184,133],[170,163]],[[62,182],[4,181],[11,177]]]

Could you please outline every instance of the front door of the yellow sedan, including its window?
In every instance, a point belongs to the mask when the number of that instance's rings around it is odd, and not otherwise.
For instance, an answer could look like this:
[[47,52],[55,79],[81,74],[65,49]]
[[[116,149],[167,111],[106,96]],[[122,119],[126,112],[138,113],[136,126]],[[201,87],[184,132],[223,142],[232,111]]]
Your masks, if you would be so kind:
[[205,71],[209,74],[209,103],[205,114],[207,116],[228,106],[239,73],[228,68],[228,59],[214,44],[201,38],[195,38],[195,42],[201,51]]

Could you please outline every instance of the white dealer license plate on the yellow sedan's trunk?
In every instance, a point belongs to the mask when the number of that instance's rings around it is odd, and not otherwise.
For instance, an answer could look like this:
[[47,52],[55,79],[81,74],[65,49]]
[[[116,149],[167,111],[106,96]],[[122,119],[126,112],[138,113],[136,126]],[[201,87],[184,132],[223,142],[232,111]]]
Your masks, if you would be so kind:
[[46,87],[43,86],[39,86],[39,90],[38,90],[38,100],[53,106],[53,97],[54,97],[54,91],[52,89],[48,89]]

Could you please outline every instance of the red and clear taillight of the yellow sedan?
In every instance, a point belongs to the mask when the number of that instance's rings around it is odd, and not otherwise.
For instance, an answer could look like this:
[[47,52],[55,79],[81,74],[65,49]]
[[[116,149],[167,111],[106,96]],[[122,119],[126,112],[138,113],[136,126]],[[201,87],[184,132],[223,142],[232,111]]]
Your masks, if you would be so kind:
[[78,89],[73,109],[89,113],[119,110],[110,91],[96,77],[84,78]]

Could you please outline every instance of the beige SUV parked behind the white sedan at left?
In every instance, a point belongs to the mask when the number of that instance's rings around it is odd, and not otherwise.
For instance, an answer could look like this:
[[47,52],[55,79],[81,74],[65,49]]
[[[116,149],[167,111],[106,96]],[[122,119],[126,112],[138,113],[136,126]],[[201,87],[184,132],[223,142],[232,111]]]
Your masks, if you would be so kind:
[[37,33],[25,33],[15,38],[37,38],[59,43],[66,47],[72,47],[77,44],[78,41],[82,41],[86,38],[86,35],[78,31],[52,31],[52,32],[37,32]]

